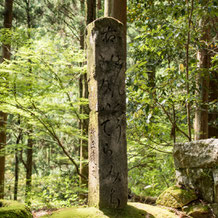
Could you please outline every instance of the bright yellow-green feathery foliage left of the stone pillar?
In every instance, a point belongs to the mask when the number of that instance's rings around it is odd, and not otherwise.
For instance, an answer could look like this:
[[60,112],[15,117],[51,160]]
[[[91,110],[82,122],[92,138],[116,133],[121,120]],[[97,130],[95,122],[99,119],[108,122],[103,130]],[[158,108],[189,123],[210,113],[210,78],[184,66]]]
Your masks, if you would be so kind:
[[79,105],[87,100],[78,98],[76,82],[85,72],[85,67],[80,67],[84,57],[78,49],[52,37],[28,41],[14,54],[14,60],[1,64],[9,82],[0,109],[21,115],[24,126],[34,126],[37,137],[47,134],[57,141],[60,136],[72,143],[72,137],[79,137],[78,120],[86,118],[79,114]]

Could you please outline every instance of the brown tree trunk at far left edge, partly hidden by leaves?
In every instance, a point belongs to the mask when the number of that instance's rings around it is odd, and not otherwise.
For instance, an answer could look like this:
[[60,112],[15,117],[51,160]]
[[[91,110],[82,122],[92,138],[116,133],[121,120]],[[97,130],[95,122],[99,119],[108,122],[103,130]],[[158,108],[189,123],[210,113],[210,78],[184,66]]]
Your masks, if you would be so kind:
[[[5,0],[4,28],[6,29],[10,29],[12,27],[12,15],[13,15],[12,11],[13,11],[13,0]],[[10,60],[11,57],[10,48],[11,48],[10,43],[3,44],[2,46],[3,60],[4,59]],[[7,78],[7,75],[4,76]],[[5,156],[4,156],[4,152],[1,151],[6,145],[6,122],[7,122],[7,114],[0,111],[0,198],[4,197]]]

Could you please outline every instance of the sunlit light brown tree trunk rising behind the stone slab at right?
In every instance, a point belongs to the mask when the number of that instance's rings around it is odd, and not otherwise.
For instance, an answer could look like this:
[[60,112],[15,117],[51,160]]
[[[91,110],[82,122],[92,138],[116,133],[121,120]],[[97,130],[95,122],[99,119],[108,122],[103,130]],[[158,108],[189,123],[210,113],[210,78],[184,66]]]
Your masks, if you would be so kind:
[[208,94],[209,68],[211,59],[205,43],[210,39],[208,19],[202,20],[200,27],[203,33],[201,40],[204,42],[204,44],[197,53],[198,74],[196,79],[196,95],[198,100],[196,102],[195,111],[195,140],[208,138]]

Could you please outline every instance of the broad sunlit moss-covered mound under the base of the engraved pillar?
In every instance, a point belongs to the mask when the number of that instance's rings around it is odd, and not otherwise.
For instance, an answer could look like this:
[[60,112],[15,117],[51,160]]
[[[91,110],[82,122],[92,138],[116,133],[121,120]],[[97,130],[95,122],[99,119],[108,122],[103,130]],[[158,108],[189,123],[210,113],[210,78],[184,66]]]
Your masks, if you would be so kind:
[[142,203],[128,203],[125,209],[97,209],[94,207],[73,207],[61,209],[43,218],[176,218],[166,209]]

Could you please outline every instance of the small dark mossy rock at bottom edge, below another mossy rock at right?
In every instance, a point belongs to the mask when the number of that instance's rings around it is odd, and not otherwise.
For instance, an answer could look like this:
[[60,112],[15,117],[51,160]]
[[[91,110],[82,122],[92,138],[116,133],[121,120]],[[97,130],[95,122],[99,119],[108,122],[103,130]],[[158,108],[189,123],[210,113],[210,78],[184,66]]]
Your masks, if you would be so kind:
[[211,210],[207,205],[196,204],[196,205],[189,205],[184,208],[184,211],[187,215],[193,218],[208,218],[211,216]]

